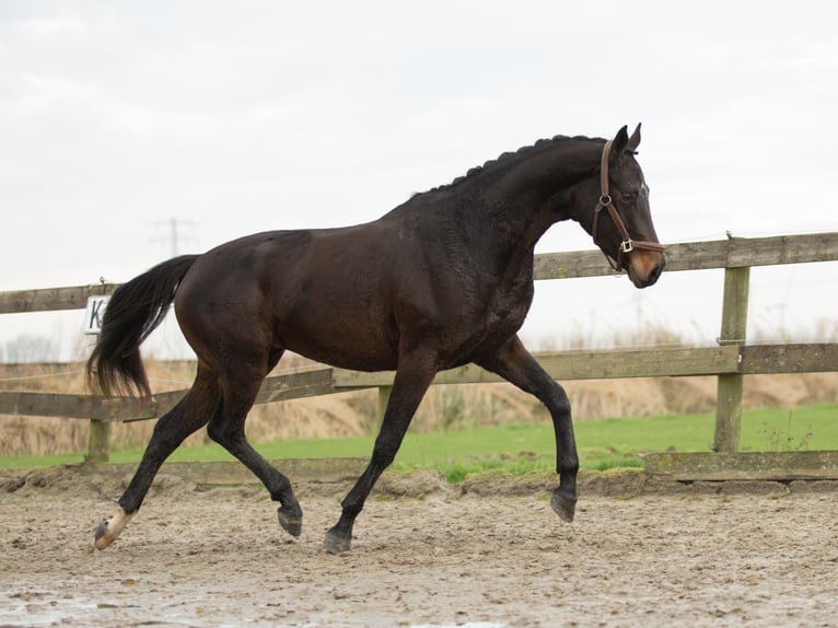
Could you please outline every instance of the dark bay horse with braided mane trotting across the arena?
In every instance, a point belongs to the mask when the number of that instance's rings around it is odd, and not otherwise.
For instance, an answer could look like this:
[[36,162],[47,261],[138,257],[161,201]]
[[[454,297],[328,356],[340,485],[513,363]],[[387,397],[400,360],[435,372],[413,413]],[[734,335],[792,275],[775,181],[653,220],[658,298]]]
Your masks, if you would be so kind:
[[356,517],[433,376],[468,362],[549,410],[559,475],[551,505],[572,521],[579,460],[570,404],[517,330],[533,300],[535,244],[557,221],[579,222],[637,288],[657,280],[663,246],[635,160],[639,142],[639,125],[631,137],[622,127],[607,142],[540,140],[368,224],[257,233],[175,257],[125,283],[107,307],[89,376],[106,395],[150,396],[139,347],[173,302],[198,369],[191,389],[158,421],[117,513],[96,530],[96,547],[119,536],[163,461],[203,426],[265,484],[280,504],[281,526],[300,534],[291,482],[244,431],[263,380],[286,350],[345,369],[396,371],[370,463],[326,533],[329,551],[350,549]]

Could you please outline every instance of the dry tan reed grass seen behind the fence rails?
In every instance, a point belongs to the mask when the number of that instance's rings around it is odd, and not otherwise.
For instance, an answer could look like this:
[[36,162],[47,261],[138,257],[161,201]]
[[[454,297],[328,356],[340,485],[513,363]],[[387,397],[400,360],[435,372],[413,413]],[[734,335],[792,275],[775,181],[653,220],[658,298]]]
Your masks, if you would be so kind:
[[[312,364],[302,358],[283,360],[273,374]],[[189,361],[148,361],[155,392],[187,388],[195,375]],[[84,394],[81,363],[0,364],[0,391]],[[608,417],[706,412],[715,407],[715,379],[656,377],[567,382],[577,421]],[[838,403],[838,373],[756,375],[745,379],[745,406],[800,407]],[[282,439],[349,437],[377,428],[375,391],[357,391],[292,402],[255,406],[247,421],[254,442]],[[461,426],[548,420],[546,410],[529,395],[508,384],[441,385],[431,388],[411,429],[432,431]],[[86,420],[50,417],[0,416],[0,455],[40,455],[85,451]],[[142,447],[154,421],[114,423],[115,449]],[[200,430],[187,441],[207,442]]]

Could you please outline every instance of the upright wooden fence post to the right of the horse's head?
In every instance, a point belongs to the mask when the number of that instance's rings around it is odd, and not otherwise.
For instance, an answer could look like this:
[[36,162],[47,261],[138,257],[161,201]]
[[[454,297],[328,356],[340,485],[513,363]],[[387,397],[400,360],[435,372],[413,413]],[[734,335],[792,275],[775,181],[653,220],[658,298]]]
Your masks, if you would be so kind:
[[[748,280],[750,268],[724,269],[724,302],[720,345],[744,345],[748,322]],[[744,375],[719,375],[715,400],[714,452],[737,452],[742,431],[742,389]]]

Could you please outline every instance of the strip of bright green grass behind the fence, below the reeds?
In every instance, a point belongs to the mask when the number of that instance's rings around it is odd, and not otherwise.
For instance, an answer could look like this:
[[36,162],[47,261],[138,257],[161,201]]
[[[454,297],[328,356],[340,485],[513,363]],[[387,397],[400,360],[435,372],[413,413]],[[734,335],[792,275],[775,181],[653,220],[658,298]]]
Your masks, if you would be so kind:
[[[583,468],[642,466],[639,452],[702,452],[713,440],[713,415],[609,419],[580,422],[577,443]],[[268,460],[305,457],[369,457],[373,437],[293,440],[260,443]],[[795,410],[763,409],[744,412],[742,451],[838,450],[838,406]],[[114,463],[136,463],[140,450],[113,452]],[[408,433],[396,458],[398,470],[438,469],[450,481],[470,474],[503,468],[524,474],[555,465],[552,426],[544,423],[503,425],[447,432]],[[0,468],[53,466],[78,463],[82,454],[54,456],[3,456]],[[232,460],[218,445],[177,450],[173,461]]]

